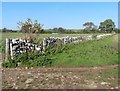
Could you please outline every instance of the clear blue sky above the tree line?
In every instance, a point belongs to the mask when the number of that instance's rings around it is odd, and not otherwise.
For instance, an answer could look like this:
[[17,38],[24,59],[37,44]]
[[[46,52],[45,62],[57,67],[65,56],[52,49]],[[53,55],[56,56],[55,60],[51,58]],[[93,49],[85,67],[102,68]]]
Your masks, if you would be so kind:
[[118,27],[117,2],[2,2],[2,28],[18,29],[17,22],[38,20],[44,29],[82,29],[85,22],[112,19]]

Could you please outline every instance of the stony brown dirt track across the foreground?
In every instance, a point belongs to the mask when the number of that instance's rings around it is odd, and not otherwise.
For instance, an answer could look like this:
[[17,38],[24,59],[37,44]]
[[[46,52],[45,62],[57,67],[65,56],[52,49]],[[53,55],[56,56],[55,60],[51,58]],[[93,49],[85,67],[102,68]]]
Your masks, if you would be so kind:
[[[117,89],[117,83],[98,80],[99,72],[117,67],[4,68],[2,86],[9,89]],[[118,80],[117,77],[111,79]]]

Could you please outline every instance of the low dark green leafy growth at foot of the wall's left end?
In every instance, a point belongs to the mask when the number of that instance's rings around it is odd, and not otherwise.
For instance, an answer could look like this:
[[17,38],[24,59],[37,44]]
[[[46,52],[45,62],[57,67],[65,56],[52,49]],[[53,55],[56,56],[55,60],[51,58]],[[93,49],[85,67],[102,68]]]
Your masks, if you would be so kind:
[[[20,65],[18,65],[20,64]],[[37,67],[37,66],[50,66],[52,64],[51,59],[46,55],[39,55],[38,52],[23,53],[18,55],[14,60],[8,60],[3,62],[2,66],[6,68],[25,66],[25,67]]]

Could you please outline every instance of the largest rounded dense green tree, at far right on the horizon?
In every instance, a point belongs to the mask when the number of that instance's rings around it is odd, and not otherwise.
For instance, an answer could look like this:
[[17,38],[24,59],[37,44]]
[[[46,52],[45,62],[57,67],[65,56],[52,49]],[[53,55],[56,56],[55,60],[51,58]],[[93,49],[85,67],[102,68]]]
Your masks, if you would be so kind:
[[115,23],[112,19],[106,19],[104,22],[100,22],[99,29],[101,31],[111,32],[115,29]]

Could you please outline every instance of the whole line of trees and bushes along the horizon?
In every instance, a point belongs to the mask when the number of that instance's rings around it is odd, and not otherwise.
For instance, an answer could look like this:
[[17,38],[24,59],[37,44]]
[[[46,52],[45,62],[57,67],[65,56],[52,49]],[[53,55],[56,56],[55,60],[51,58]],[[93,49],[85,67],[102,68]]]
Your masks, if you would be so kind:
[[[22,33],[111,33],[117,32],[119,33],[120,30],[115,28],[115,22],[112,19],[106,19],[103,22],[100,22],[99,26],[95,25],[93,22],[85,22],[83,24],[84,29],[65,29],[62,27],[53,28],[53,29],[43,29],[43,24],[40,24],[37,20],[32,21],[28,18],[25,22],[19,21],[18,28],[20,29],[19,32]],[[17,32],[7,28],[3,28],[2,32]]]

